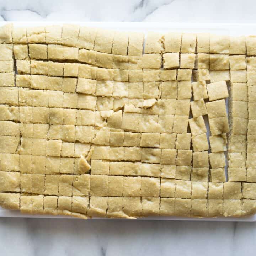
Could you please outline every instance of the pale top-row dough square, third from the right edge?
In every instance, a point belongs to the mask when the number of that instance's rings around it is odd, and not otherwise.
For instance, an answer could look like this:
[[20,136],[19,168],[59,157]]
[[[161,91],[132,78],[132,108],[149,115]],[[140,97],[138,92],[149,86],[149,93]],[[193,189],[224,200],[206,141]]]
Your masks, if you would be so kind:
[[210,34],[210,53],[229,53],[229,36]]

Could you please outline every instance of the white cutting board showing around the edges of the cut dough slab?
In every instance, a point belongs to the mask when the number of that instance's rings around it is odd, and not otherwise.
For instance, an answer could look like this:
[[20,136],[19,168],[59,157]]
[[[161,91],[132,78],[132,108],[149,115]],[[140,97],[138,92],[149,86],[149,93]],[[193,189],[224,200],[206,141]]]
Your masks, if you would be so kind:
[[[7,22],[1,21],[0,26]],[[12,22],[17,27],[34,27],[53,24],[63,24],[65,22]],[[102,27],[114,30],[125,31],[180,31],[187,33],[212,33],[225,34],[229,36],[247,36],[256,34],[256,23],[177,23],[177,22],[68,22],[78,24],[80,26]],[[207,129],[209,124],[206,123]],[[209,135],[209,134],[207,134]],[[7,210],[0,207],[0,217],[29,217],[29,218],[73,218],[66,216],[51,216],[51,215],[28,215],[21,214],[18,211]],[[98,219],[98,218],[94,218]],[[211,221],[256,221],[256,214],[250,217],[242,218],[182,218],[182,217],[146,217],[140,218],[143,220],[211,220]]]

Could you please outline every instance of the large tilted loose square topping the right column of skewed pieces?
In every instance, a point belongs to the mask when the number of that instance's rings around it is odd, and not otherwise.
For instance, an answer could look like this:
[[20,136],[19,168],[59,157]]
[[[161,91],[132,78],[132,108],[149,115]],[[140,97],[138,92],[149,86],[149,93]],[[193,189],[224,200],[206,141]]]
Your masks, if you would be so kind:
[[207,91],[210,101],[228,97],[228,89],[225,81],[207,84]]

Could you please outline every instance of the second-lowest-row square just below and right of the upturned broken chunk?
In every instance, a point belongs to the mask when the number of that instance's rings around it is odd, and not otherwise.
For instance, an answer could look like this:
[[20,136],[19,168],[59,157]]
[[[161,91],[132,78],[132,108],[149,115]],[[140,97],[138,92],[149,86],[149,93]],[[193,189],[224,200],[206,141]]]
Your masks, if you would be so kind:
[[107,196],[108,195],[108,176],[90,175],[90,195]]

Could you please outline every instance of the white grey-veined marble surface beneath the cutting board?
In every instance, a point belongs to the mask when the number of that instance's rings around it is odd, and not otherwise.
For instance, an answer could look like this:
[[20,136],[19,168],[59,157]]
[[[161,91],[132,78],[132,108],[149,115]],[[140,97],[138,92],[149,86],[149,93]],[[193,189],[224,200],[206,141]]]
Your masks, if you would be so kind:
[[[255,7],[254,0],[0,0],[0,20],[254,23]],[[3,256],[249,256],[255,241],[256,222],[0,219]]]

